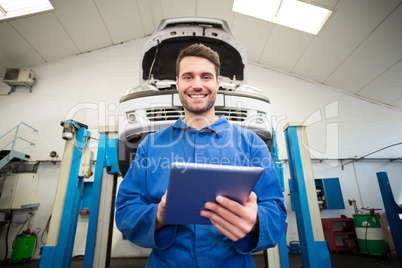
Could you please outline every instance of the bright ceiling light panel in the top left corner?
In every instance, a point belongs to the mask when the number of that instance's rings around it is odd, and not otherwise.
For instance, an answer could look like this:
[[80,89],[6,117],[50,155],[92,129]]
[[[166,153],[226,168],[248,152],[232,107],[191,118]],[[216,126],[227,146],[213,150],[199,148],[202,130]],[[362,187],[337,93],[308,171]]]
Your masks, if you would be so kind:
[[0,20],[53,10],[49,0],[0,0]]

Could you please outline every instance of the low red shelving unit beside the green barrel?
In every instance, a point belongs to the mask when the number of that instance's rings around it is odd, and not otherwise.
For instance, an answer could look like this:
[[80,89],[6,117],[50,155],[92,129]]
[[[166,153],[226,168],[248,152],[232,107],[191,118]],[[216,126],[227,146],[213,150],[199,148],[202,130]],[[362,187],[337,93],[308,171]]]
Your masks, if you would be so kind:
[[357,252],[357,237],[353,218],[321,219],[325,240],[331,251]]

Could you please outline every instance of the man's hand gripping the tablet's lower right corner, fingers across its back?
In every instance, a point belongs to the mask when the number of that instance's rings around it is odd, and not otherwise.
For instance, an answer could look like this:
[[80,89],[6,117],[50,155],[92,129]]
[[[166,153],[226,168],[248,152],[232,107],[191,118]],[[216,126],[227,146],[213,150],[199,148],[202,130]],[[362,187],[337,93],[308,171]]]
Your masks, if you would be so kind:
[[219,232],[230,240],[242,239],[258,228],[257,195],[254,192],[251,192],[244,206],[223,196],[217,196],[216,201],[218,204],[205,203],[205,208],[210,211],[201,210],[200,215],[209,218]]

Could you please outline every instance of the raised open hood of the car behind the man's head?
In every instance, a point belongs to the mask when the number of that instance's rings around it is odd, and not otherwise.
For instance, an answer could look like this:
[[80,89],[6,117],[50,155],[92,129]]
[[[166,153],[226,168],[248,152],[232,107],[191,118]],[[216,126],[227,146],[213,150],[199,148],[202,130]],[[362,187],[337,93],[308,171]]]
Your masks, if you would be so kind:
[[247,52],[233,36],[227,22],[192,17],[163,20],[142,46],[140,84],[153,84],[160,89],[175,82],[176,58],[181,49],[194,43],[202,43],[218,52],[221,82],[246,83]]

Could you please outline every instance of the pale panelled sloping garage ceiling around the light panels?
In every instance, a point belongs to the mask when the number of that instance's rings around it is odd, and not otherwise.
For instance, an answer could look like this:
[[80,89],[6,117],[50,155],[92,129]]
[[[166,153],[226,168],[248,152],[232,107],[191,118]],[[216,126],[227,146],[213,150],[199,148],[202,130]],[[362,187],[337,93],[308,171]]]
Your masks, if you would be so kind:
[[0,22],[0,76],[153,33],[171,17],[228,22],[248,60],[402,111],[402,0],[305,0],[334,10],[317,35],[232,11],[233,0],[51,0]]

